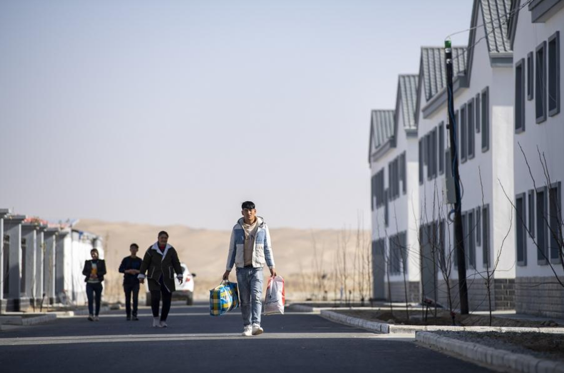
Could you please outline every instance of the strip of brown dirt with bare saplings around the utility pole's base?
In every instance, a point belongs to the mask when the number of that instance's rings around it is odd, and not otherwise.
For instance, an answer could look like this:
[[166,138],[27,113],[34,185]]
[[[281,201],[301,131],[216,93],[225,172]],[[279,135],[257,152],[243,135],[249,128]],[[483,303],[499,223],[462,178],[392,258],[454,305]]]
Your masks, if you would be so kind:
[[[346,314],[347,316],[358,317],[369,321],[381,321],[398,325],[453,325],[452,317],[447,311],[438,310],[437,318],[434,317],[434,310],[425,313],[421,310],[409,310],[409,319],[405,309],[390,310],[359,310],[359,309],[339,309],[334,312]],[[457,326],[490,326],[489,316],[487,315],[455,315],[455,325]],[[492,317],[491,326],[507,327],[564,327],[557,323],[547,323],[541,321],[515,320],[503,317]]]

